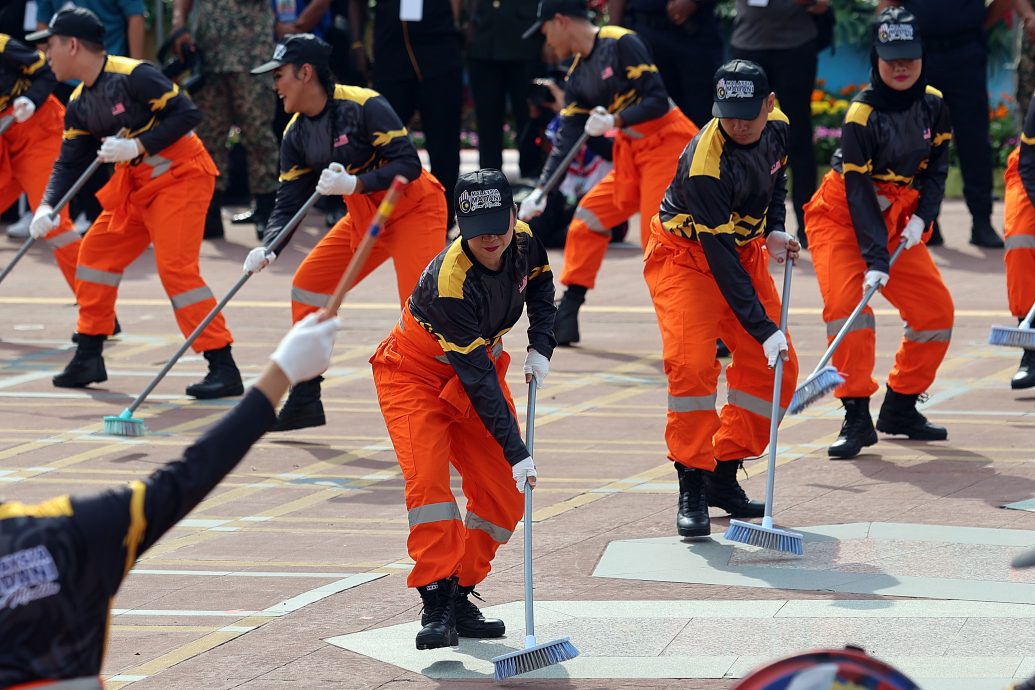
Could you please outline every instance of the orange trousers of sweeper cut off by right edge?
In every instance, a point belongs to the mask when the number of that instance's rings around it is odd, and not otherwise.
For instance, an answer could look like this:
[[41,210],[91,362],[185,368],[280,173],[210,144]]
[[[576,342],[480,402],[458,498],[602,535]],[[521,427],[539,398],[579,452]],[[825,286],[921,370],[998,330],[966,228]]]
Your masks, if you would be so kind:
[[1006,295],[1010,312],[1024,319],[1035,303],[1035,207],[1017,173],[1021,149],[1006,161]]

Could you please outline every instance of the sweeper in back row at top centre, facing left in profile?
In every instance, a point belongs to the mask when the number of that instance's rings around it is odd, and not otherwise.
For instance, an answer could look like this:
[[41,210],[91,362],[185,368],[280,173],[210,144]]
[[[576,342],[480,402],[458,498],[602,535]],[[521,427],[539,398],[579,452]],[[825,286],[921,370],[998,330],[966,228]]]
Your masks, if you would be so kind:
[[[697,133],[696,124],[676,108],[666,91],[650,51],[634,32],[619,26],[595,26],[585,0],[542,0],[536,21],[525,32],[539,31],[560,59],[576,57],[564,82],[564,109],[554,148],[535,189],[521,204],[519,217],[530,220],[546,208],[564,171],[565,156],[586,137],[614,131],[614,169],[579,202],[564,241],[565,286],[558,306],[558,344],[579,342],[579,309],[611,242],[611,229],[640,213],[640,240],[646,246],[650,217],[657,212],[666,185],[676,172],[679,153]],[[554,173],[561,177],[555,180]]]

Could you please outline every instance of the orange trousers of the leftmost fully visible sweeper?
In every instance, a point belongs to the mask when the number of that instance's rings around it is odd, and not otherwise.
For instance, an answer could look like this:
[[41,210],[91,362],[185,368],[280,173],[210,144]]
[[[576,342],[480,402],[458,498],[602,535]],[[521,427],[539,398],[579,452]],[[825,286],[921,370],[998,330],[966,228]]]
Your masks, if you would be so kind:
[[[194,134],[137,166],[120,164],[97,192],[103,211],[83,238],[76,269],[80,333],[111,333],[115,298],[126,266],[154,245],[154,262],[176,323],[189,335],[215,307],[201,277],[198,253],[215,167]],[[218,314],[194,342],[196,352],[233,342]]]

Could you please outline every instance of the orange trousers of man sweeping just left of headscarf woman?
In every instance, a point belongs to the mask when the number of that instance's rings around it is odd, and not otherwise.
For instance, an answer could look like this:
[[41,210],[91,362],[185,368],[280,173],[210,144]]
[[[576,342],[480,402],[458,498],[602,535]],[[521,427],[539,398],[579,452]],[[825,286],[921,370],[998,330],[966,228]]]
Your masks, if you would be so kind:
[[[769,252],[762,240],[738,250],[740,263],[773,323],[779,323],[780,297],[769,276]],[[773,372],[762,343],[740,325],[719,291],[698,242],[675,237],[655,214],[644,259],[644,277],[661,328],[661,355],[669,379],[664,441],[669,457],[688,468],[713,470],[715,461],[761,455],[769,445]],[[727,403],[715,414],[719,363],[715,340],[733,355],[726,369]],[[794,395],[798,358],[783,363],[780,416]]]

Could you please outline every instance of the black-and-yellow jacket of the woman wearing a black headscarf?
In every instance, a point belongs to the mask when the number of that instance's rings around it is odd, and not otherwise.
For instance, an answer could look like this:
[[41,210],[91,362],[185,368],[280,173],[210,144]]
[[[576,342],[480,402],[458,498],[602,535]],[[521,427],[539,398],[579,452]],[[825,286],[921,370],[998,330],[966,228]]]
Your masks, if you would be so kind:
[[875,108],[869,89],[857,95],[845,114],[840,147],[830,164],[845,176],[849,213],[867,268],[888,272],[888,231],[875,182],[914,185],[920,190],[915,215],[938,217],[949,170],[952,124],[940,91],[927,87],[923,97],[903,111]]

